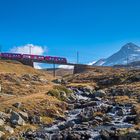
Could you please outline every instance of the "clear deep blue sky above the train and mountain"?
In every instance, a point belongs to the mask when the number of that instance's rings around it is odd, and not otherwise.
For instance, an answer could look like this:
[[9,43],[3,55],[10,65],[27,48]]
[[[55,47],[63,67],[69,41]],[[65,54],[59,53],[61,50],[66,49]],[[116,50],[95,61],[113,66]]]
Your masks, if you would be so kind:
[[2,51],[47,46],[45,54],[88,63],[127,42],[140,45],[139,0],[0,0]]

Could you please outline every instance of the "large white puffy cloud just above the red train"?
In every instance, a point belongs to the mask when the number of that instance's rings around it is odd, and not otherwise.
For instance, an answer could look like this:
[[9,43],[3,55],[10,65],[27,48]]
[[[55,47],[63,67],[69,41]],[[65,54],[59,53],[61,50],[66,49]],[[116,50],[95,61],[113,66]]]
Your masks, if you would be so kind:
[[30,49],[31,49],[31,54],[34,54],[34,55],[43,55],[43,53],[46,51],[46,47],[33,45],[33,44],[26,44],[23,46],[14,47],[10,50],[10,52],[30,54]]

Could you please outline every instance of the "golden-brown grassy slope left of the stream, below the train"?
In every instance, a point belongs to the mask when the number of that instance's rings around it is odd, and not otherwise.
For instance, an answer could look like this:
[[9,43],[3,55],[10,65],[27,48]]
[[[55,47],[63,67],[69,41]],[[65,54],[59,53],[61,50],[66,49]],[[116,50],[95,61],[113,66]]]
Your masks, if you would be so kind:
[[[52,80],[53,77],[47,72],[16,61],[0,60],[0,132],[3,130],[8,137],[11,134],[16,135],[21,129],[37,128],[37,122],[32,125],[27,122],[25,126],[20,124],[21,127],[16,128],[14,134],[7,132],[5,126],[1,124],[1,119],[7,119],[7,117],[2,118],[5,113],[24,112],[24,115],[28,114],[31,118],[38,117],[36,118],[38,121],[46,124],[52,123],[57,116],[63,116],[66,104],[46,94],[53,87]],[[5,125],[10,124],[5,122]]]

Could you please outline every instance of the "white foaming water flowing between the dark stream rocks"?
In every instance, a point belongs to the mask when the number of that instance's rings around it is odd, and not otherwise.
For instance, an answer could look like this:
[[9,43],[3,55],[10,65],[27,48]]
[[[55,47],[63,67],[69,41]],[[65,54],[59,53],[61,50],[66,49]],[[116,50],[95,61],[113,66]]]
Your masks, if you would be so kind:
[[[81,92],[75,93],[75,96],[77,98],[77,102],[80,103],[81,100],[84,100],[84,102],[90,102],[91,99],[88,97],[82,96]],[[108,100],[101,100],[101,101],[96,101],[97,105],[94,106],[94,110],[98,110],[101,107],[109,106],[109,101]],[[92,107],[90,107],[91,109]],[[117,115],[119,109],[122,110],[123,115]],[[48,135],[49,139],[52,140],[53,135],[59,134],[59,133],[65,133],[65,130],[69,129],[67,124],[69,122],[73,123],[74,125],[71,126],[69,124],[69,127],[71,128],[70,131],[72,132],[78,132],[78,133],[85,133],[90,135],[91,138],[89,140],[94,140],[94,139],[100,139],[100,131],[101,130],[111,130],[112,128],[130,128],[133,126],[133,124],[124,122],[126,117],[130,114],[132,106],[118,106],[118,105],[113,105],[112,109],[110,112],[106,113],[106,116],[112,118],[111,122],[109,124],[101,124],[98,126],[92,126],[88,125],[87,123],[80,122],[79,115],[81,112],[85,111],[85,114],[88,113],[86,112],[88,107],[85,108],[75,108],[73,110],[69,110],[66,112],[66,121],[57,121],[55,122],[54,125],[51,127],[44,127],[43,131]],[[95,117],[97,120],[100,120],[100,117]],[[84,127],[83,127],[84,124]],[[75,125],[77,127],[75,127]],[[87,127],[85,128],[85,126]],[[64,128],[61,130],[60,126],[63,126]]]

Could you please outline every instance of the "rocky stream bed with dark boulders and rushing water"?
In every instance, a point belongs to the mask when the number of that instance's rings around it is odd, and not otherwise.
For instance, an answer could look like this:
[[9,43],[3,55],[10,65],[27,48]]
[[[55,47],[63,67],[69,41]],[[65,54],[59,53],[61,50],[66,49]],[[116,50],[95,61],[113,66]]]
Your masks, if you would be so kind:
[[[116,103],[105,98],[104,91],[96,96],[71,88],[73,98],[69,99],[65,117],[56,119],[51,125],[41,125],[38,131],[27,131],[27,140],[117,140],[131,139],[120,136],[122,130],[132,128],[136,123],[134,106],[130,103]],[[135,133],[139,131],[135,130]]]

